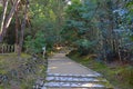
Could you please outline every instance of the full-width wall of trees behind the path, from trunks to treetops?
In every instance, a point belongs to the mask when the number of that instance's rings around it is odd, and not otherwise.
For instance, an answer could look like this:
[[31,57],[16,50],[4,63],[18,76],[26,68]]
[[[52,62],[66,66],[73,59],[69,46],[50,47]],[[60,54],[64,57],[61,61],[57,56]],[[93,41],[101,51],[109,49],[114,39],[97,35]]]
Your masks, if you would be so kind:
[[81,56],[96,53],[105,61],[132,57],[132,1],[71,0],[71,3],[66,0],[3,0],[1,40],[4,37],[4,42],[16,42],[19,55],[21,48],[37,53],[43,46],[49,50],[54,44],[65,43],[76,47]]

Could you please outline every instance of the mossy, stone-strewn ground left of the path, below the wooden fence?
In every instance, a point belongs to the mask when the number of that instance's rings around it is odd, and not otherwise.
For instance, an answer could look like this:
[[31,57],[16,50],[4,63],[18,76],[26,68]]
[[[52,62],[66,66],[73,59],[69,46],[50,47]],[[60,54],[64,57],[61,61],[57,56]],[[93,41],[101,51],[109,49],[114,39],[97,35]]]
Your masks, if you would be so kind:
[[32,89],[44,79],[44,59],[22,53],[0,55],[0,89]]

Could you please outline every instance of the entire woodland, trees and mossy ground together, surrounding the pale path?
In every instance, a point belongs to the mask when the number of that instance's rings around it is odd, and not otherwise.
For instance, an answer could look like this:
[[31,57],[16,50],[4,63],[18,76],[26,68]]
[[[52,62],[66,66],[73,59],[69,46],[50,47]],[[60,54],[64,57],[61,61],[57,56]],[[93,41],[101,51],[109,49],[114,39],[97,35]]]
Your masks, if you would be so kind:
[[[0,89],[31,89],[57,47],[96,65],[116,89],[133,88],[133,0],[0,0]],[[27,66],[31,71],[17,76]]]

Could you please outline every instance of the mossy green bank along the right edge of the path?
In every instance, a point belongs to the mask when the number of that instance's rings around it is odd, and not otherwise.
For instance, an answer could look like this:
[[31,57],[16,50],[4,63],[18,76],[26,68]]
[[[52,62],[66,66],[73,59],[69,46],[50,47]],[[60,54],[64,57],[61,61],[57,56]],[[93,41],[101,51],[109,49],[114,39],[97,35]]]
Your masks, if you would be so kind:
[[115,89],[133,89],[133,67],[119,62],[103,63],[94,59],[94,55],[81,57],[72,51],[68,55],[72,60],[102,73]]

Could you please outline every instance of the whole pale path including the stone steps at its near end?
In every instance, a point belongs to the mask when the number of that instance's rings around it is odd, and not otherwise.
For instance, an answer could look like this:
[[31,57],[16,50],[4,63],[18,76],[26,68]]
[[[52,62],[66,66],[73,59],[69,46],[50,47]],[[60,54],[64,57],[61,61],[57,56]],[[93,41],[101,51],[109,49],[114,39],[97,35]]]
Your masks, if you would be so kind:
[[47,82],[42,89],[113,89],[102,76],[65,57],[55,53],[48,60]]

